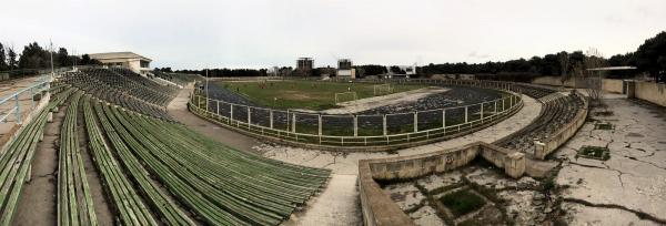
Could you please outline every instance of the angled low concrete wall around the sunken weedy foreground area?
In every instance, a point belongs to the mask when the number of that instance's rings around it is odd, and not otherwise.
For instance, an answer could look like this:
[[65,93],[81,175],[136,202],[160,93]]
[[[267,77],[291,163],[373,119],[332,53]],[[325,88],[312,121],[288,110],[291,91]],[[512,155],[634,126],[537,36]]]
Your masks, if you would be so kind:
[[417,155],[359,161],[359,189],[365,225],[413,225],[375,179],[410,179],[447,172],[477,156],[503,167],[514,178],[525,172],[525,154],[483,142]]

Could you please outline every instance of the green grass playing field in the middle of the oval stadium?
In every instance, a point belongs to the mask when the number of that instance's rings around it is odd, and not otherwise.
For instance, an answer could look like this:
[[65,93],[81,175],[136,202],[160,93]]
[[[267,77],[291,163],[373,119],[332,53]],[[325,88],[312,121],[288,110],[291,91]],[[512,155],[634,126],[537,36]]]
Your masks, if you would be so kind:
[[[375,96],[372,83],[342,83],[317,81],[219,81],[215,85],[236,92],[248,100],[275,109],[326,110],[337,107],[335,93],[355,92],[356,99]],[[426,85],[391,84],[393,93],[425,88]],[[389,94],[389,93],[383,93]],[[351,95],[339,95],[351,101]]]

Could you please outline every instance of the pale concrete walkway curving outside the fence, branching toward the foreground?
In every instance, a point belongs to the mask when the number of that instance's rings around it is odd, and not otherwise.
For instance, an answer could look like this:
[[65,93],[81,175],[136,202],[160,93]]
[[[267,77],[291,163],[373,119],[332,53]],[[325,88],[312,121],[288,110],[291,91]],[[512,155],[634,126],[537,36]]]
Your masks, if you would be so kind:
[[[202,120],[186,110],[186,102],[191,90],[192,85],[183,89],[169,105],[168,110],[169,114],[175,120],[192,130],[239,150],[260,153],[266,157],[287,163],[325,167],[333,171],[332,178],[326,188],[319,196],[311,199],[304,209],[293,214],[284,225],[362,225],[356,186],[359,160],[427,153],[443,148],[453,148],[477,141],[494,142],[529,124],[538,116],[542,106],[536,100],[524,95],[525,105],[515,115],[463,137],[401,150],[394,154],[335,153],[263,143],[256,138],[241,135]],[[422,214],[431,216],[427,209],[423,209],[422,212]]]

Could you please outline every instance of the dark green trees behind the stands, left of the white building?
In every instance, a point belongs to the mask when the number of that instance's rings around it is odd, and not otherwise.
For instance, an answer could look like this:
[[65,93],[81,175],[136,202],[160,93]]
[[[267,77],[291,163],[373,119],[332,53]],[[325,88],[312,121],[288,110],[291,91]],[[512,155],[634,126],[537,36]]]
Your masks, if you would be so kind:
[[101,64],[89,54],[81,56],[70,55],[65,48],[58,48],[56,51],[42,48],[37,42],[23,47],[23,51],[17,53],[13,47],[4,47],[0,43],[0,71],[27,70],[27,69],[48,69],[51,68],[51,54],[53,58],[53,68]]

